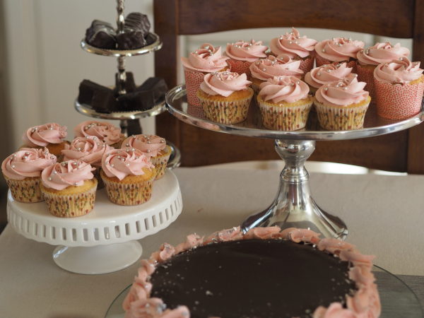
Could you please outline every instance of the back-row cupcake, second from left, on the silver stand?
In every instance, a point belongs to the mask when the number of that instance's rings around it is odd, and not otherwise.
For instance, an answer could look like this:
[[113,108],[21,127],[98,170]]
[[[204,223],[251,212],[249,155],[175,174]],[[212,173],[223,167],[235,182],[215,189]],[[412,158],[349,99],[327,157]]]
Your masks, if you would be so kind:
[[245,73],[247,78],[250,78],[250,64],[265,58],[267,49],[268,47],[262,45],[262,41],[255,42],[252,39],[250,42],[245,42],[240,40],[232,44],[228,43],[223,55],[230,57],[228,62],[231,64],[232,72],[240,75]]

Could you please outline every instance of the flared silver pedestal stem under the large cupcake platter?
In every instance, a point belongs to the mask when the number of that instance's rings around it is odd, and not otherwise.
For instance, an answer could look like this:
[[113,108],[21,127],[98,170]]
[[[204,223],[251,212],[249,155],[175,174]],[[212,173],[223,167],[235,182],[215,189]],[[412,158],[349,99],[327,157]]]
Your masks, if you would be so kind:
[[257,226],[278,225],[280,228],[310,228],[322,237],[345,240],[346,224],[322,211],[312,199],[305,161],[315,150],[315,141],[276,139],[275,148],[285,167],[280,175],[276,199],[264,211],[254,213],[242,223],[247,231]]

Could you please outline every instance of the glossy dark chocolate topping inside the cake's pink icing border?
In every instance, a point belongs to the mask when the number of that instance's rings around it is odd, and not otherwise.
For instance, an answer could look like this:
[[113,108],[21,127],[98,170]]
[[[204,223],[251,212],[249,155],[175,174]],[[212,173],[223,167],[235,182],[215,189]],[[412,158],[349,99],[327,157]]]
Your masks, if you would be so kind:
[[158,264],[151,297],[186,305],[192,318],[312,317],[344,305],[355,283],[347,261],[311,245],[240,240],[197,247]]

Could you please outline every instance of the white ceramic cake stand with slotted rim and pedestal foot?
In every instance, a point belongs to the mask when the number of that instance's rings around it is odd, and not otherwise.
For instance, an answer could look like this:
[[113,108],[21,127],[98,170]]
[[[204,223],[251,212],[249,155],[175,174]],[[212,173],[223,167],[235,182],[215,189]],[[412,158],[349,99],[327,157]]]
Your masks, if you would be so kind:
[[112,273],[134,264],[142,248],[138,241],[167,228],[182,211],[177,177],[167,170],[154,182],[151,199],[139,206],[119,206],[107,199],[105,189],[95,196],[86,216],[52,216],[45,201],[25,204],[8,192],[8,223],[19,234],[38,242],[58,245],[54,262],[73,273]]

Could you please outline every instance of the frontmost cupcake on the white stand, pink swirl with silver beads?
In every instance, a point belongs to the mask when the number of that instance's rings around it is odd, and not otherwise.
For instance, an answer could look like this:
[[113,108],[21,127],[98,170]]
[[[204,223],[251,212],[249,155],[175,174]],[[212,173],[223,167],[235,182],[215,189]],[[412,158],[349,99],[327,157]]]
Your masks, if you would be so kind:
[[81,160],[68,160],[42,171],[40,188],[52,215],[73,218],[93,210],[98,184],[93,170]]

